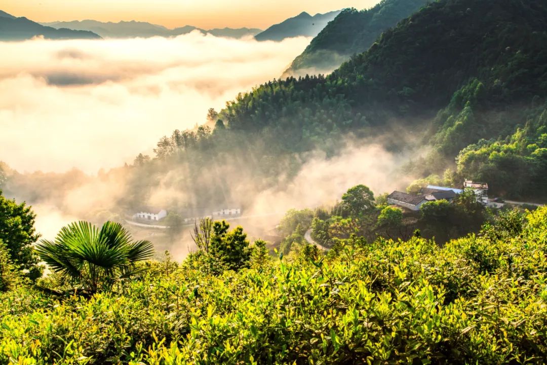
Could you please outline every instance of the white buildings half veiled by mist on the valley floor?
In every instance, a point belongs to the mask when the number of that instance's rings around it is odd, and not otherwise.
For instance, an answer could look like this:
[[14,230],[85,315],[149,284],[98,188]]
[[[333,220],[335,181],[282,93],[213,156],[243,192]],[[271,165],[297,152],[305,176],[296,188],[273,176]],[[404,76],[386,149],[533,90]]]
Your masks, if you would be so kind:
[[[178,215],[182,217],[184,223],[193,223],[199,221],[202,218],[226,218],[241,215],[241,208],[222,208],[222,209],[188,209],[183,211],[177,211]],[[133,214],[133,219],[144,221],[161,221],[167,217],[167,210],[160,207],[142,207],[138,209],[138,212]]]

